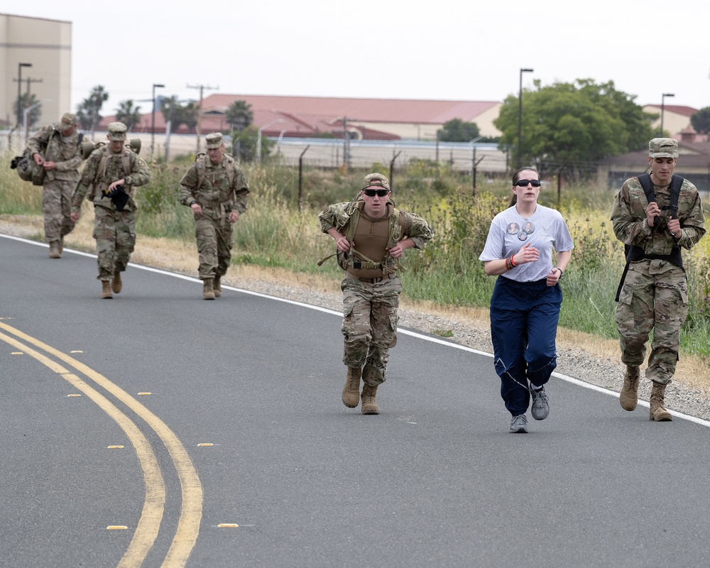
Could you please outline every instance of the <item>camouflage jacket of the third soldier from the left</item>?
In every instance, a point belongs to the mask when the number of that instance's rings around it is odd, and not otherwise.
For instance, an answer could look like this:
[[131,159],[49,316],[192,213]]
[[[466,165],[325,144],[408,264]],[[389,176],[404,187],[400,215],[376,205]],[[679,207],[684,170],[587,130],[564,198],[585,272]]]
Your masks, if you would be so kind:
[[178,199],[188,207],[195,200],[204,214],[214,212],[221,216],[222,210],[231,209],[242,214],[249,203],[249,184],[231,155],[224,154],[219,164],[213,164],[206,155],[198,155],[180,180]]

